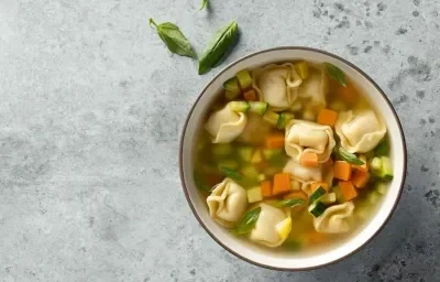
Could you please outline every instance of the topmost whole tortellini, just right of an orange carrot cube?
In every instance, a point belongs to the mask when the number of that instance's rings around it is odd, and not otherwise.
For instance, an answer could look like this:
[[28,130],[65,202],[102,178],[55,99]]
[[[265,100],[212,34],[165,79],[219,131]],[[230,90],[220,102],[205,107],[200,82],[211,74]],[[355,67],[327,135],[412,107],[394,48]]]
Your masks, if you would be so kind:
[[294,64],[267,65],[253,72],[252,86],[261,101],[267,102],[275,111],[290,108],[298,94],[302,79]]

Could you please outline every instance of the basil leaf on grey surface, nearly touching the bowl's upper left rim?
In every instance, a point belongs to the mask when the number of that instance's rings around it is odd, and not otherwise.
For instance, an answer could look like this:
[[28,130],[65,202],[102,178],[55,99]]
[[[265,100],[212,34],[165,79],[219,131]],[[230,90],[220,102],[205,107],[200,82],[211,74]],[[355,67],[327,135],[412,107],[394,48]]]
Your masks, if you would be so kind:
[[199,75],[208,73],[224,59],[238,34],[239,24],[234,21],[216,32],[200,57]]

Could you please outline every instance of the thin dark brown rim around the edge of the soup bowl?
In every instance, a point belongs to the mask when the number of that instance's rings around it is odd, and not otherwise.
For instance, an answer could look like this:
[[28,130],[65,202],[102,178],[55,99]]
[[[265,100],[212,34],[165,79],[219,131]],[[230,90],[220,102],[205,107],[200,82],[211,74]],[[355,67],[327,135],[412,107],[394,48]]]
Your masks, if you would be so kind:
[[[240,62],[264,54],[264,53],[268,53],[268,52],[274,52],[274,51],[283,51],[283,50],[289,50],[289,51],[296,51],[296,50],[300,50],[300,51],[310,51],[310,52],[316,52],[316,53],[321,53],[323,55],[333,57],[338,61],[341,61],[342,63],[349,65],[350,67],[352,67],[354,70],[356,70],[359,74],[361,74],[364,78],[366,78],[376,89],[377,91],[382,95],[382,98],[384,98],[384,100],[386,101],[386,104],[388,105],[389,109],[393,112],[393,116],[397,122],[397,127],[399,129],[399,134],[400,134],[400,139],[403,142],[403,149],[404,149],[404,170],[403,170],[403,174],[402,174],[402,178],[400,178],[400,187],[399,187],[399,192],[397,194],[397,198],[393,205],[393,208],[391,209],[391,213],[388,214],[388,216],[386,217],[385,221],[377,228],[377,230],[373,234],[373,236],[371,236],[364,243],[360,245],[358,248],[353,249],[351,252],[349,252],[348,254],[333,260],[333,261],[329,261],[319,265],[314,265],[314,267],[307,267],[307,268],[278,268],[278,267],[272,267],[272,265],[267,265],[264,263],[260,263],[260,262],[255,262],[251,259],[248,259],[243,256],[241,256],[240,253],[235,252],[234,250],[228,248],[224,243],[222,243],[213,232],[211,232],[209,230],[209,228],[204,224],[204,221],[201,220],[201,218],[199,217],[199,215],[196,212],[196,208],[189,197],[188,194],[188,187],[186,186],[185,180],[184,180],[184,165],[183,165],[183,152],[184,152],[184,139],[185,139],[185,134],[186,134],[186,130],[187,130],[187,126],[189,122],[189,119],[193,115],[193,111],[195,109],[195,107],[197,106],[198,101],[200,100],[200,98],[205,95],[206,90],[208,89],[208,87],[219,78],[219,76],[221,74],[223,74],[224,72],[227,72],[229,68],[231,68],[232,66],[239,64]],[[333,53],[323,51],[323,50],[319,50],[319,48],[314,48],[314,47],[306,47],[306,46],[278,46],[278,47],[273,47],[273,48],[265,48],[262,51],[257,51],[254,53],[251,53],[249,55],[242,56],[240,58],[238,58],[237,61],[230,63],[229,65],[227,65],[226,67],[223,67],[220,72],[218,72],[218,74],[212,77],[209,83],[204,87],[204,89],[200,91],[200,94],[198,95],[197,99],[194,101],[189,112],[187,113],[184,127],[183,127],[183,131],[180,133],[180,140],[179,140],[179,156],[178,156],[178,162],[179,162],[179,176],[180,176],[180,183],[185,193],[185,197],[186,200],[188,202],[189,207],[191,208],[193,214],[195,215],[195,217],[197,218],[197,220],[199,221],[199,224],[201,225],[201,227],[205,229],[205,231],[207,231],[207,234],[218,243],[220,245],[223,249],[226,249],[227,251],[229,251],[230,253],[232,253],[233,256],[261,268],[265,268],[265,269],[271,269],[271,270],[277,270],[277,271],[306,271],[306,270],[315,270],[315,269],[320,269],[323,267],[328,267],[334,263],[338,263],[351,256],[353,256],[354,253],[356,253],[358,251],[360,251],[363,247],[365,247],[367,243],[370,243],[385,227],[385,225],[389,221],[389,219],[392,218],[393,214],[396,210],[396,207],[402,198],[402,194],[404,191],[404,185],[405,185],[405,180],[406,180],[406,172],[407,172],[407,148],[406,148],[406,140],[405,140],[405,134],[404,134],[404,129],[402,127],[400,120],[397,116],[396,110],[394,109],[392,102],[389,101],[388,97],[386,96],[386,94],[384,93],[384,90],[382,90],[382,88],[373,80],[373,78],[371,78],[366,73],[364,73],[360,67],[355,66],[353,63],[349,62],[348,59],[340,57],[339,55],[336,55]]]

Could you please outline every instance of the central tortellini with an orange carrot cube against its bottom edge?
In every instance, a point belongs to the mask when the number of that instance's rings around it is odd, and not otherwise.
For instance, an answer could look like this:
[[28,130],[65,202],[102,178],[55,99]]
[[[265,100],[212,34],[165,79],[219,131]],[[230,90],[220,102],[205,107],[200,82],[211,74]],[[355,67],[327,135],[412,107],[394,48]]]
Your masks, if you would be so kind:
[[324,163],[334,145],[333,130],[329,126],[298,119],[287,123],[285,150],[296,162],[304,152],[314,152],[319,163]]

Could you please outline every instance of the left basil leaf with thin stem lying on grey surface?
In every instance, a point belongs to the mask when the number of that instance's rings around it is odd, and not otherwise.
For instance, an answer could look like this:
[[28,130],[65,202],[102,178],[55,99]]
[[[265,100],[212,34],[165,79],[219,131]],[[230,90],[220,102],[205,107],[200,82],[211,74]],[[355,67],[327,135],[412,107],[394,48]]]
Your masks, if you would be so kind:
[[158,36],[166,44],[169,52],[180,56],[197,57],[191,44],[189,44],[189,41],[176,24],[170,22],[156,24],[154,20],[150,18],[150,25],[156,28]]

